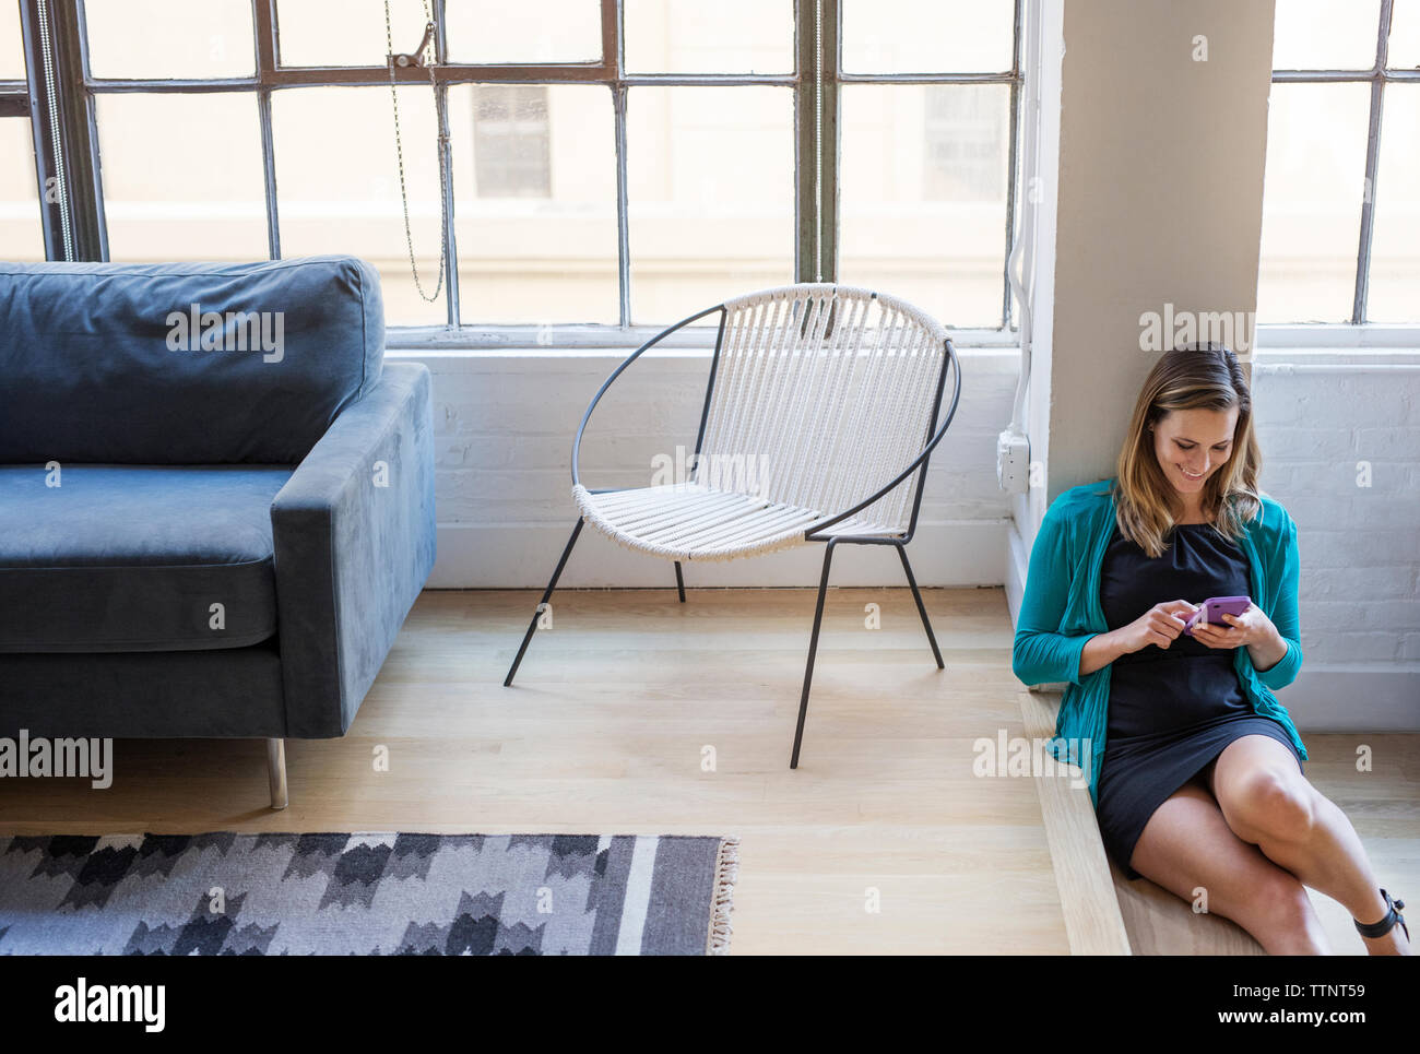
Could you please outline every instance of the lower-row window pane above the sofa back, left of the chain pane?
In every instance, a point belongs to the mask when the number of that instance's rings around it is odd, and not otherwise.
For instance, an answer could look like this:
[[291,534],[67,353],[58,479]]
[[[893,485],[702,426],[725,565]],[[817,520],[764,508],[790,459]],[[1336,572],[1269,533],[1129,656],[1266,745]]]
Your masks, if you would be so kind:
[[[114,260],[267,259],[251,92],[99,95],[97,105]],[[200,152],[187,146],[197,129],[213,129]]]

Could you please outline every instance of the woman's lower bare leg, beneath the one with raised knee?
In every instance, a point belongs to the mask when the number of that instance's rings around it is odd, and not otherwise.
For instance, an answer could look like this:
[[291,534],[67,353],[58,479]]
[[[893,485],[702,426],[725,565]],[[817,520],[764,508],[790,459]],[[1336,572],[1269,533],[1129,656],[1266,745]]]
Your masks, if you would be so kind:
[[1201,886],[1208,912],[1233,919],[1269,955],[1331,952],[1305,886],[1238,838],[1197,780],[1154,811],[1129,864],[1184,901]]

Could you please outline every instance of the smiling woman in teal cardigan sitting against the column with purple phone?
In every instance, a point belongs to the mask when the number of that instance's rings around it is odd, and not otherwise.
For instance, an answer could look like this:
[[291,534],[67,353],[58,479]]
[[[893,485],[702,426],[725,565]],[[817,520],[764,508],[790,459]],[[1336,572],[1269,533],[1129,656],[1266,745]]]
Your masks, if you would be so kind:
[[[1065,491],[1041,523],[1012,668],[1027,685],[1068,682],[1058,746],[1075,760],[1072,744],[1089,741],[1100,838],[1126,878],[1183,899],[1206,889],[1207,911],[1271,953],[1326,950],[1312,886],[1346,906],[1372,952],[1406,952],[1356,831],[1306,780],[1306,749],[1272,695],[1302,662],[1299,561],[1296,524],[1258,490],[1260,466],[1237,355],[1160,357],[1118,476]],[[1248,604],[1184,634],[1214,597]]]

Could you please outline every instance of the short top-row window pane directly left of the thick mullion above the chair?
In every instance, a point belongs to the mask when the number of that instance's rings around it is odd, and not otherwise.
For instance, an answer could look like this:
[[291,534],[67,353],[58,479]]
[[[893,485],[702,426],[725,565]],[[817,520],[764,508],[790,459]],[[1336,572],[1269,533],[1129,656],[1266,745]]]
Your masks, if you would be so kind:
[[629,72],[794,71],[792,0],[625,0]]

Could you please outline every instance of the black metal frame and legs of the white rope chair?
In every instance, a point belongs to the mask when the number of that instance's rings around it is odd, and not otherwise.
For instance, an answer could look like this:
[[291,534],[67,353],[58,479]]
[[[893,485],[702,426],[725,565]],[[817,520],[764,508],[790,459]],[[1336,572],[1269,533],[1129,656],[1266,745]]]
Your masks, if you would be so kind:
[[[676,332],[677,330],[680,330],[680,328],[683,328],[686,325],[690,325],[692,322],[696,322],[696,321],[699,321],[699,320],[701,320],[701,318],[704,318],[707,315],[713,315],[716,311],[720,313],[720,327],[719,327],[719,331],[716,332],[714,355],[710,359],[710,379],[706,384],[704,406],[700,411],[700,429],[699,429],[699,433],[696,435],[696,457],[699,459],[700,446],[704,442],[704,435],[706,435],[706,420],[709,419],[709,415],[710,415],[710,399],[711,399],[711,395],[714,393],[716,371],[717,371],[717,368],[720,365],[720,345],[721,345],[721,341],[724,339],[724,327],[726,327],[726,320],[728,317],[728,311],[726,308],[726,304],[717,304],[716,307],[706,308],[704,311],[700,311],[700,313],[693,314],[693,315],[690,315],[687,318],[683,318],[679,322],[676,322],[674,325],[670,325],[666,330],[662,330],[659,334],[656,334],[655,337],[652,337],[649,341],[646,341],[639,348],[636,348],[636,351],[633,351],[630,355],[628,355],[626,359],[619,366],[616,366],[616,369],[612,371],[611,376],[608,376],[606,381],[602,382],[602,386],[596,391],[596,395],[592,396],[591,403],[588,403],[586,412],[582,415],[582,423],[577,429],[577,438],[572,440],[572,486],[574,487],[577,487],[577,486],[581,484],[581,474],[578,472],[578,455],[579,455],[581,446],[582,446],[582,433],[586,430],[586,423],[588,423],[588,420],[591,420],[592,411],[596,409],[596,403],[601,401],[602,395],[605,395],[606,391],[616,381],[616,378],[621,376],[622,371],[626,369],[626,366],[629,366],[632,362],[635,362],[638,358],[640,358],[640,355],[643,352],[646,352],[650,348],[656,347],[662,339],[665,339],[670,334]],[[930,442],[927,442],[927,445],[922,449],[922,452],[912,460],[912,463],[906,469],[903,469],[900,473],[897,473],[897,476],[893,477],[893,480],[890,483],[888,483],[886,486],[883,486],[875,494],[872,494],[870,497],[859,501],[856,506],[853,506],[852,509],[849,509],[849,510],[846,510],[843,513],[838,513],[836,516],[832,516],[832,517],[829,517],[826,520],[815,523],[812,527],[809,527],[808,530],[804,531],[804,540],[805,541],[824,541],[825,543],[825,548],[824,548],[824,571],[819,575],[819,581],[818,581],[818,605],[814,609],[814,632],[811,634],[809,643],[808,643],[808,665],[804,669],[804,690],[802,690],[802,695],[799,696],[798,724],[794,729],[794,751],[790,756],[790,768],[798,768],[799,747],[802,746],[802,741],[804,741],[804,720],[808,716],[809,688],[814,683],[814,659],[818,655],[818,635],[819,635],[819,628],[824,624],[824,598],[825,598],[825,595],[828,592],[828,571],[829,571],[829,565],[832,564],[832,560],[834,560],[834,547],[835,545],[838,545],[838,544],[842,543],[842,544],[855,544],[855,545],[895,545],[897,548],[897,555],[902,558],[902,570],[903,570],[903,572],[907,577],[907,585],[912,587],[912,597],[917,602],[917,614],[922,616],[922,626],[923,626],[923,629],[927,631],[927,642],[932,645],[932,655],[937,661],[937,669],[944,669],[946,668],[946,663],[943,663],[943,661],[941,661],[941,649],[937,648],[936,634],[932,632],[932,619],[927,618],[927,608],[922,602],[922,592],[917,590],[917,580],[916,580],[916,577],[912,572],[912,564],[907,561],[907,548],[906,548],[907,543],[912,541],[912,537],[913,537],[913,534],[917,530],[917,513],[919,513],[919,510],[922,507],[922,490],[923,490],[923,486],[926,484],[926,480],[927,480],[927,463],[929,463],[930,455],[932,455],[933,449],[936,449],[937,443],[941,442],[943,436],[946,436],[947,428],[951,426],[951,419],[953,419],[953,416],[956,416],[956,412],[957,412],[957,402],[961,398],[961,364],[957,359],[956,349],[951,347],[951,339],[947,338],[947,339],[943,341],[943,344],[944,344],[946,354],[941,358],[941,369],[940,369],[939,376],[937,376],[937,391],[936,391],[936,395],[934,395],[933,402],[932,402],[932,420],[929,422],[929,429],[930,429],[932,423],[936,422],[937,415],[941,412],[941,396],[943,396],[943,392],[946,391],[947,369],[949,368],[951,369],[953,378],[954,378],[954,381],[953,381],[953,391],[951,391],[951,405],[947,409],[946,420],[943,420],[941,425],[937,428],[937,430],[932,436]],[[888,493],[890,493],[905,479],[907,479],[912,473],[917,472],[919,469],[922,470],[922,473],[917,477],[917,493],[913,497],[913,503],[912,503],[912,520],[909,521],[907,531],[905,534],[902,534],[902,536],[897,536],[897,534],[882,534],[882,536],[875,536],[875,534],[863,534],[863,536],[835,534],[835,536],[826,536],[826,537],[822,534],[822,531],[825,528],[832,527],[835,523],[839,523],[841,520],[846,520],[851,516],[856,516],[863,509],[868,509],[868,506],[873,504],[875,501],[878,501],[879,499],[882,499],[883,496],[886,496]],[[589,493],[604,494],[604,493],[609,493],[609,491],[615,491],[615,490],[626,490],[626,487],[605,487],[605,489],[601,489],[601,490],[591,490]],[[567,547],[562,550],[561,560],[557,561],[557,567],[552,571],[552,578],[548,581],[547,590],[542,591],[542,599],[538,601],[538,605],[537,605],[537,608],[532,612],[532,619],[531,619],[531,622],[528,622],[527,634],[523,636],[523,645],[518,648],[518,653],[513,659],[513,666],[508,668],[508,676],[503,680],[503,686],[504,688],[508,688],[510,685],[513,685],[513,678],[518,672],[518,665],[521,665],[521,662],[523,662],[523,655],[527,652],[528,643],[532,641],[532,634],[537,632],[538,618],[541,616],[544,607],[552,598],[552,591],[557,588],[557,580],[561,578],[562,568],[567,567],[567,560],[568,560],[568,557],[572,555],[572,547],[577,544],[577,538],[582,533],[582,526],[584,524],[585,524],[585,520],[582,517],[578,517],[577,526],[572,527],[572,537],[569,537],[567,540]],[[680,602],[684,604],[686,602],[686,584],[684,584],[684,578],[682,577],[680,561],[677,560],[677,561],[674,561],[674,564],[676,564],[676,591],[677,591],[677,594],[680,597]]]

